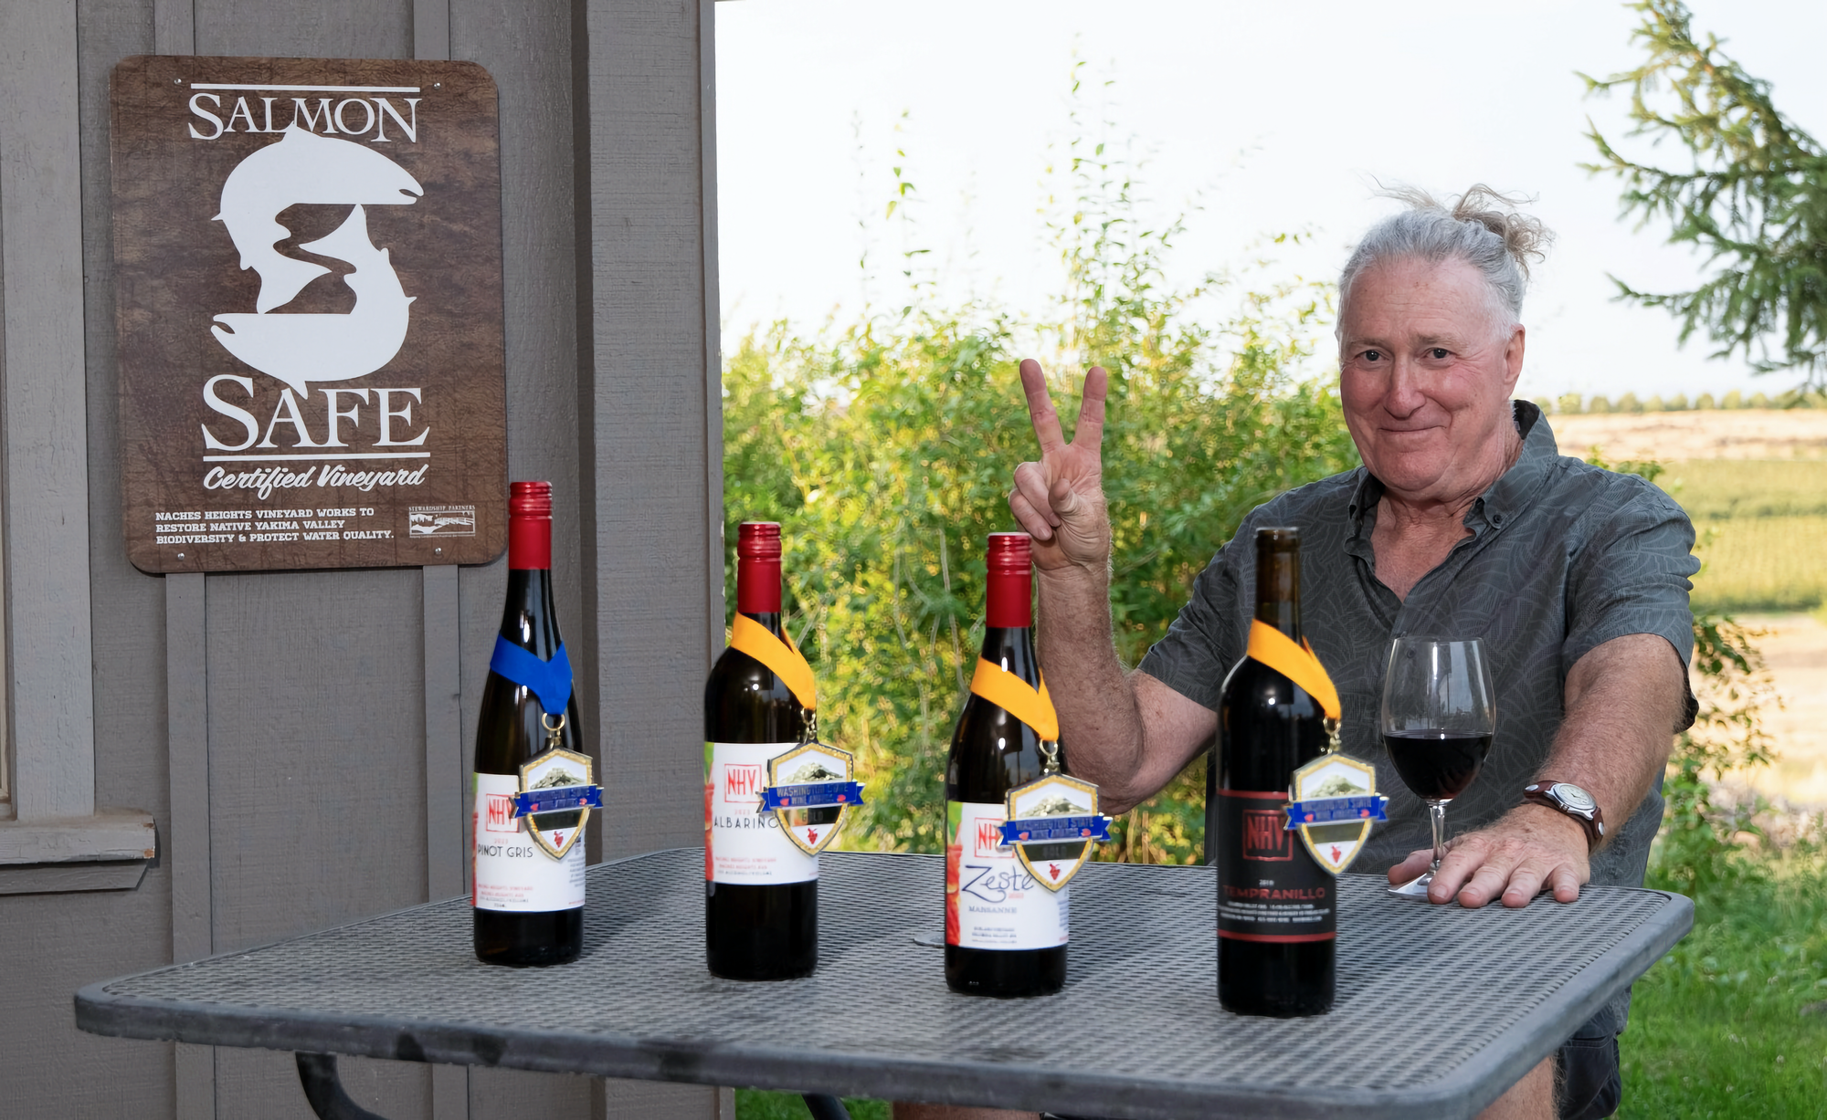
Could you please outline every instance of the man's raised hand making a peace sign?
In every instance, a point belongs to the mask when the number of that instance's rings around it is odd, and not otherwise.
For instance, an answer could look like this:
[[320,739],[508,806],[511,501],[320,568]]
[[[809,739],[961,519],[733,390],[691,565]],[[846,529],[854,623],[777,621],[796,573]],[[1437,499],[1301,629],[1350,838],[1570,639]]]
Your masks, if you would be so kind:
[[1111,560],[1111,522],[1104,511],[1104,367],[1085,374],[1078,427],[1067,443],[1047,378],[1032,358],[1021,363],[1021,390],[1040,440],[1040,461],[1016,467],[1009,509],[1034,538],[1034,565],[1045,571],[1091,569],[1100,580]]

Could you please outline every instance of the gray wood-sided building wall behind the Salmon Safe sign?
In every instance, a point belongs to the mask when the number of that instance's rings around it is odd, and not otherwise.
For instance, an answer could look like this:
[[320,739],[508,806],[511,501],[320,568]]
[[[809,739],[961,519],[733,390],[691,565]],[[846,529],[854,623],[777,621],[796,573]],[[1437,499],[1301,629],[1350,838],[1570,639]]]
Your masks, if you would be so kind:
[[[68,122],[0,131],[0,190],[13,192],[0,213],[49,215],[0,224],[7,677],[40,697],[9,713],[44,744],[82,744],[93,726],[88,752],[46,746],[33,764],[53,783],[18,795],[141,808],[161,837],[135,890],[0,896],[0,1113],[309,1120],[289,1054],[80,1034],[71,994],[468,890],[466,781],[506,584],[504,560],[170,580],[126,562],[113,64],[417,53],[495,77],[510,476],[555,489],[561,624],[585,742],[610,788],[597,817],[610,826],[590,837],[601,859],[694,845],[702,830],[700,690],[722,646],[711,7],[0,0],[0,80],[13,91],[42,78]],[[22,42],[60,53],[26,58]],[[35,208],[18,192],[38,192]],[[20,283],[22,268],[55,283]],[[58,518],[60,505],[79,516]],[[58,618],[64,631],[46,637]],[[709,1120],[718,1096],[398,1062],[342,1071],[356,1100],[395,1120]]]

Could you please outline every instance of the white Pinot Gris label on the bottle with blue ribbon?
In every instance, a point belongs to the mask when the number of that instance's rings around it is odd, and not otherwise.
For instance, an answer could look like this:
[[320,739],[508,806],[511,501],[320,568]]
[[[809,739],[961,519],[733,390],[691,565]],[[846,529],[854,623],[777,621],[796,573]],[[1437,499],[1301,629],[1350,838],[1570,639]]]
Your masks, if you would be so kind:
[[[513,815],[521,779],[512,773],[475,775],[475,883],[470,901],[479,910],[576,910],[583,905],[583,845],[566,845],[554,859],[533,843],[526,821]],[[561,841],[563,843],[563,841]]]

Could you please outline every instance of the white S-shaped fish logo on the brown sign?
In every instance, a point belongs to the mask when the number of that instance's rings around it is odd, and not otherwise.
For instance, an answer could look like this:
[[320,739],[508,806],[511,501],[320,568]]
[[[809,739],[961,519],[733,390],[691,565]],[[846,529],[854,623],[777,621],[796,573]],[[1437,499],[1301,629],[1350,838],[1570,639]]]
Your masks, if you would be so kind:
[[[225,350],[300,394],[309,392],[311,381],[365,378],[387,365],[406,343],[413,297],[400,288],[389,250],[369,239],[365,206],[411,206],[420,195],[418,181],[380,151],[292,124],[278,142],[236,164],[223,182],[216,221],[228,228],[241,268],[259,274],[259,296],[254,314],[219,314],[210,334]],[[331,272],[274,248],[290,237],[280,213],[301,202],[354,208],[333,233],[298,246],[354,264],[343,277],[356,296],[349,314],[269,314]]]

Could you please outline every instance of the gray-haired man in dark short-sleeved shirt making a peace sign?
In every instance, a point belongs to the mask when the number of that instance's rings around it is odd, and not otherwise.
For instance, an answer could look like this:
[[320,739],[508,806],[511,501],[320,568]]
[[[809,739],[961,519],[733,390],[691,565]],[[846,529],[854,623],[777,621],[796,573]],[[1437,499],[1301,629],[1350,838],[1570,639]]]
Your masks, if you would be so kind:
[[[1432,856],[1425,806],[1376,737],[1390,638],[1429,633],[1482,637],[1498,690],[1496,739],[1452,803],[1460,835],[1429,901],[1526,907],[1544,890],[1569,903],[1588,881],[1641,885],[1672,731],[1694,719],[1692,525],[1650,483],[1558,456],[1540,410],[1511,401],[1540,226],[1480,210],[1505,202],[1484,188],[1452,210],[1405,201],[1339,281],[1339,392],[1365,465],[1253,511],[1133,673],[1111,635],[1105,372],[1085,378],[1067,443],[1040,365],[1021,363],[1041,458],[1016,469],[1009,505],[1034,536],[1040,655],[1071,768],[1122,812],[1211,746],[1219,690],[1244,651],[1255,529],[1297,525],[1303,622],[1339,686],[1345,748],[1376,761],[1390,795],[1390,823],[1359,866],[1403,883]],[[1569,812],[1586,808],[1571,790],[1557,790],[1566,806],[1526,801],[1542,783],[1584,790],[1593,819]],[[1611,1115],[1626,1009],[1628,998],[1608,1007],[1485,1116]],[[1021,1116],[924,1113],[966,1115]]]

